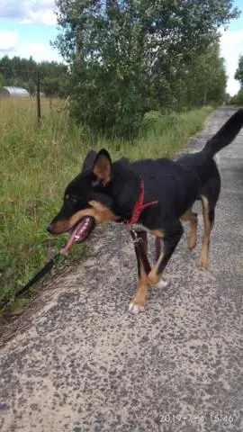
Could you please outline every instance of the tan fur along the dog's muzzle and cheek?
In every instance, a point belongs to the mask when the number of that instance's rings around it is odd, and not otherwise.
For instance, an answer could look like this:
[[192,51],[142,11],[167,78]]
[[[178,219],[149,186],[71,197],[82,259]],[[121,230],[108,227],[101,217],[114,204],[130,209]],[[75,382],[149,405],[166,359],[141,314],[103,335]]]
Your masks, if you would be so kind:
[[97,223],[104,222],[105,220],[117,220],[118,217],[112,213],[111,210],[107,209],[101,202],[90,201],[89,204],[93,207],[92,209],[84,209],[76,211],[76,213],[68,220],[58,220],[53,224],[53,233],[61,234],[71,229],[76,222],[85,216],[93,216]]

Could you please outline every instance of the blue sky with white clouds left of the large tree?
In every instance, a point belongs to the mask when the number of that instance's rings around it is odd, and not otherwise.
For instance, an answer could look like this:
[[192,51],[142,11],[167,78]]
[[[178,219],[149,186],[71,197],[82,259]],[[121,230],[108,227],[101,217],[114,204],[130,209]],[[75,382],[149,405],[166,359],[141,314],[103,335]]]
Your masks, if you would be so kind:
[[59,60],[54,0],[0,0],[0,56]]

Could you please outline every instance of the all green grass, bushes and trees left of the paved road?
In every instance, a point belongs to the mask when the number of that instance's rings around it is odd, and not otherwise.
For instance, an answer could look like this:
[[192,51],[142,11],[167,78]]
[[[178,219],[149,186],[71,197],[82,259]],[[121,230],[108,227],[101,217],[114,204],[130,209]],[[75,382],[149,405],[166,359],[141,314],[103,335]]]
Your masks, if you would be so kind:
[[[225,100],[218,30],[238,16],[231,0],[56,4],[54,45],[66,65],[0,59],[0,91],[20,85],[34,94],[40,74],[50,98],[42,99],[40,129],[34,100],[0,99],[0,297],[63,243],[46,226],[89,148],[114,158],[172,156],[202,128],[207,105]],[[73,262],[84,251],[73,247],[68,256]]]

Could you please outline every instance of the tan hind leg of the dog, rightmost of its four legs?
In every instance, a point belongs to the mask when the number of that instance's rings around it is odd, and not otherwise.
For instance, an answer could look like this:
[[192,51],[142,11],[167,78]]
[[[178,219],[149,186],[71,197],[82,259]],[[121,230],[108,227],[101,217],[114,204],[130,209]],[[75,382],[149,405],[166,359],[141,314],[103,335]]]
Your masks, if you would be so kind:
[[210,233],[211,233],[211,222],[209,220],[209,202],[205,196],[201,196],[202,201],[202,216],[203,216],[203,224],[204,224],[204,233],[202,237],[202,250],[199,260],[197,262],[197,266],[202,268],[203,270],[207,270],[209,266],[209,242],[210,242]]

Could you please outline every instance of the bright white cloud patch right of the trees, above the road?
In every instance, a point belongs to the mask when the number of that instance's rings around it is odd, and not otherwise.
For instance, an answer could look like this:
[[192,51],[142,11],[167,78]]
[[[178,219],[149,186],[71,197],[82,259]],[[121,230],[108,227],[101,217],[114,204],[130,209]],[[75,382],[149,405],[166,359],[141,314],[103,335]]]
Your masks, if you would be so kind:
[[221,31],[220,51],[221,56],[225,58],[226,72],[229,76],[227,92],[231,95],[237,94],[239,83],[234,79],[238,67],[238,57],[243,55],[243,30],[238,31]]

